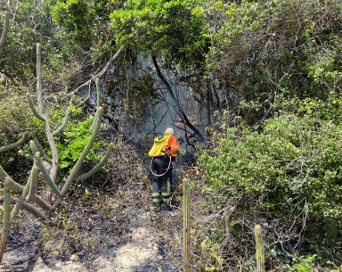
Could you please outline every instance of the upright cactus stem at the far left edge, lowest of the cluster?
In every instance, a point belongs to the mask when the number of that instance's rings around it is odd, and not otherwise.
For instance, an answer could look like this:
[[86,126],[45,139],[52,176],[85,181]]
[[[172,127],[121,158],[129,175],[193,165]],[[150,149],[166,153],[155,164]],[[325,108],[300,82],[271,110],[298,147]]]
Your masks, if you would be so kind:
[[11,227],[11,184],[11,179],[6,177],[4,180],[4,219],[0,237],[0,262],[3,260]]

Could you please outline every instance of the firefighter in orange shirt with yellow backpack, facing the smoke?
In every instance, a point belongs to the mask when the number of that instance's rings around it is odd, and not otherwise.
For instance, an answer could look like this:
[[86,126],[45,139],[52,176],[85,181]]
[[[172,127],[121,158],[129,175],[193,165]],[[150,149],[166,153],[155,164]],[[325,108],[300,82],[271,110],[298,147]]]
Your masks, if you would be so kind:
[[156,211],[162,208],[164,210],[172,210],[169,205],[173,169],[172,161],[175,161],[178,149],[179,146],[174,136],[174,129],[167,128],[162,138],[155,139],[153,147],[149,152],[149,156],[152,157],[152,202],[153,208]]

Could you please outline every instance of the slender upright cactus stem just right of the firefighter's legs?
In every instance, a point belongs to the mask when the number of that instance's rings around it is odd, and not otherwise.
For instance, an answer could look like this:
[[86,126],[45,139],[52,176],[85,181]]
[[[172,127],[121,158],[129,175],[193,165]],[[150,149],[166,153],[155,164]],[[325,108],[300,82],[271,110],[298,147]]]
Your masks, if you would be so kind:
[[190,207],[189,182],[183,179],[183,267],[184,272],[190,271]]

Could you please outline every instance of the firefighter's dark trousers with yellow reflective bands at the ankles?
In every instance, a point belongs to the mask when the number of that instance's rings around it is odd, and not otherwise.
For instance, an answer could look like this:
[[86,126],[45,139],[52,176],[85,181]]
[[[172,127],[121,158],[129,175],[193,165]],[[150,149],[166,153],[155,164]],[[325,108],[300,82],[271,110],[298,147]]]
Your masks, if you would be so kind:
[[[152,161],[152,171],[156,175],[162,175],[167,170],[170,159],[168,157],[156,157]],[[172,167],[161,177],[152,175],[152,199],[156,205],[163,202],[169,204],[171,198]]]

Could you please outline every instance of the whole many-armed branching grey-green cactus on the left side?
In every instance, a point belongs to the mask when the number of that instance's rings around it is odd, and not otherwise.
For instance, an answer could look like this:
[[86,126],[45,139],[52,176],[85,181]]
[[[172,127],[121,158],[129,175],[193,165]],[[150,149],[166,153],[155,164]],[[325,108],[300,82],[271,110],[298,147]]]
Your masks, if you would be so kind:
[[[69,120],[69,111],[70,108],[67,111],[67,114],[65,116],[64,121],[62,122],[61,126],[54,132],[52,133],[50,124],[48,122],[48,119],[45,116],[44,108],[43,108],[43,94],[42,94],[42,87],[41,87],[41,81],[42,81],[42,75],[41,75],[41,59],[40,59],[40,45],[37,44],[37,101],[38,101],[38,110],[36,106],[34,105],[31,96],[28,94],[27,95],[27,100],[28,100],[28,105],[33,112],[33,114],[37,117],[38,120],[42,120],[44,122],[44,127],[45,127],[45,134],[48,139],[48,143],[50,145],[51,151],[52,151],[52,166],[50,168],[50,173],[47,171],[45,168],[45,164],[49,164],[46,159],[47,156],[45,155],[45,152],[41,145],[37,142],[37,138],[34,137],[34,140],[31,140],[29,142],[29,146],[31,151],[34,154],[34,165],[31,169],[30,175],[28,177],[26,185],[22,186],[19,183],[15,182],[12,180],[11,177],[8,176],[8,174],[4,171],[4,169],[0,165],[0,182],[4,182],[5,188],[4,188],[4,210],[5,216],[4,216],[4,222],[3,222],[3,228],[1,230],[1,243],[0,243],[0,262],[2,260],[3,254],[4,254],[4,248],[6,246],[6,241],[8,237],[8,231],[11,227],[11,224],[13,220],[16,218],[18,215],[18,212],[21,208],[26,209],[30,211],[33,215],[35,215],[37,218],[40,218],[42,220],[47,219],[48,215],[53,209],[56,209],[57,206],[61,203],[61,199],[67,194],[70,185],[72,184],[73,181],[79,181],[83,180],[87,177],[93,176],[97,171],[99,171],[104,163],[109,159],[110,153],[112,152],[113,149],[113,144],[110,144],[108,151],[106,152],[105,156],[103,157],[102,161],[100,161],[94,169],[90,170],[89,172],[80,175],[77,177],[77,174],[79,170],[81,169],[81,166],[83,162],[85,161],[85,157],[87,154],[90,152],[91,148],[93,147],[94,141],[96,137],[99,134],[100,128],[101,128],[101,120],[102,120],[102,107],[98,107],[94,122],[92,124],[92,128],[94,129],[93,134],[88,141],[88,143],[85,145],[85,149],[81,153],[80,157],[78,158],[75,166],[73,169],[71,169],[71,172],[69,174],[69,177],[67,177],[66,183],[63,186],[63,188],[60,189],[58,188],[57,185],[55,185],[54,180],[57,175],[57,169],[58,169],[58,152],[56,145],[54,144],[53,141],[53,135],[57,135],[58,133],[61,133],[62,129],[65,128],[68,120]],[[100,98],[100,87],[99,87],[99,80],[96,80],[96,89],[97,89],[97,97]],[[80,103],[80,105],[83,105],[84,103],[87,103],[89,101],[90,97],[85,98],[85,101],[83,103]],[[100,101],[100,99],[98,99]],[[100,102],[98,102],[99,105]],[[71,102],[70,102],[71,104]],[[23,138],[18,141],[17,143],[14,144],[9,144],[4,147],[0,148],[0,152],[5,152],[8,151],[12,148],[15,148],[22,144],[23,142],[26,141],[28,137],[28,133],[25,133]],[[41,158],[41,154],[43,154],[44,159]],[[45,161],[44,161],[45,160]],[[41,171],[43,176],[45,177],[47,185],[51,188],[54,194],[57,196],[57,201],[53,203],[53,206],[51,205],[51,199],[52,195],[50,194],[49,197],[47,197],[46,202],[36,194],[37,191],[37,171],[38,169]],[[15,201],[15,199],[11,200],[11,193],[10,189],[12,189],[20,192],[20,197],[16,199],[15,205],[13,209],[11,210],[11,201]],[[10,189],[9,189],[10,188]],[[51,192],[50,192],[51,193]],[[49,199],[49,200],[48,200]],[[39,208],[45,211],[43,213],[40,209],[37,209],[34,205],[29,205],[28,202],[35,202]],[[4,239],[3,239],[4,237]]]

